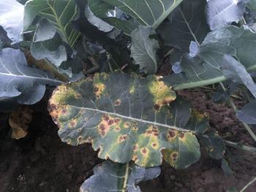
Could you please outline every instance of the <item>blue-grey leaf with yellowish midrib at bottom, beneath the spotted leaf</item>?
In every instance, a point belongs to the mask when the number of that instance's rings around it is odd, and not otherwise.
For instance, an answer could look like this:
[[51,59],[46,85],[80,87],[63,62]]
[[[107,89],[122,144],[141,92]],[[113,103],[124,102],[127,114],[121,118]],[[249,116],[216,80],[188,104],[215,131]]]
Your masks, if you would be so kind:
[[80,192],[140,192],[137,184],[158,177],[160,172],[159,167],[146,169],[133,163],[116,164],[105,161],[94,167],[94,175],[83,183]]

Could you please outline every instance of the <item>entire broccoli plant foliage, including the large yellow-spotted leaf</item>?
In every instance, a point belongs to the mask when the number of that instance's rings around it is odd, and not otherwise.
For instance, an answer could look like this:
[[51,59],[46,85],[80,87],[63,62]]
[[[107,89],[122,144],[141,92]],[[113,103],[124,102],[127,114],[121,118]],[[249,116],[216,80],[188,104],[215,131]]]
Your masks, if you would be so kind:
[[[90,143],[105,160],[80,191],[140,191],[162,161],[185,169],[206,150],[228,169],[226,144],[255,151],[222,139],[178,94],[219,85],[214,100],[230,104],[256,141],[255,0],[22,2],[0,2],[1,111],[58,85],[48,110],[59,137]],[[237,91],[246,95],[241,110]]]

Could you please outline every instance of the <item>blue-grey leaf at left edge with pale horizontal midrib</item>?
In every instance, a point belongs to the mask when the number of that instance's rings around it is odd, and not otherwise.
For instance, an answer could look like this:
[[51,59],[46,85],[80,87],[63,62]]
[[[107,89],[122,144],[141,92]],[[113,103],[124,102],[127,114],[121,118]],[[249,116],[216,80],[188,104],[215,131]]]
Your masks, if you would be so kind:
[[[7,103],[34,104],[44,96],[45,85],[59,85],[47,73],[31,68],[20,50],[4,48],[0,53],[0,109]],[[6,104],[4,102],[7,102]]]

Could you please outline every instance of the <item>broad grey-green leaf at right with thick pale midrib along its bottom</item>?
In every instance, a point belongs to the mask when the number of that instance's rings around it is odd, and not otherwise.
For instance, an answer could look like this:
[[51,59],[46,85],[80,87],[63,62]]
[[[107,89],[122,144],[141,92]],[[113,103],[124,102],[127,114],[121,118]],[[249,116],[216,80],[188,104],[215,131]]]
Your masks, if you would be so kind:
[[256,70],[256,34],[244,28],[230,26],[210,32],[195,58],[184,55],[181,68],[186,74],[170,75],[166,83],[176,90],[211,85],[227,80],[222,72],[223,55],[233,55],[246,68],[247,72]]

